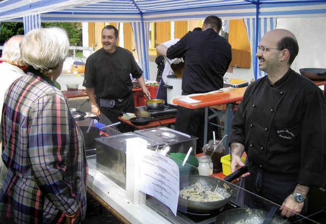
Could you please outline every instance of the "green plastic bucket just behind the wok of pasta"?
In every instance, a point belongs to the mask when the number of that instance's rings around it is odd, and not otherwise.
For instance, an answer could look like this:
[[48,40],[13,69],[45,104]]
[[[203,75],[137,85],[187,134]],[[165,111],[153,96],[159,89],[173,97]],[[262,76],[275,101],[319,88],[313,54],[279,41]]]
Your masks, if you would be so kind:
[[170,153],[170,159],[175,161],[179,166],[180,177],[197,175],[198,159],[195,156],[189,155],[188,160],[182,166],[185,156],[185,153]]

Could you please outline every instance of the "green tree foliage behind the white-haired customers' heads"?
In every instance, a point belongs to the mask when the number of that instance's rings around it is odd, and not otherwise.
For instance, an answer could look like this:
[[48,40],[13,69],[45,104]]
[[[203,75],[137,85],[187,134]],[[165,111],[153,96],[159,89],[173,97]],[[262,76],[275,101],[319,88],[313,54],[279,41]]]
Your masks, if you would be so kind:
[[[59,26],[66,30],[70,45],[82,46],[82,23],[79,22],[42,22],[41,27]],[[24,34],[22,22],[2,22],[0,30],[0,43],[4,43],[8,38]]]

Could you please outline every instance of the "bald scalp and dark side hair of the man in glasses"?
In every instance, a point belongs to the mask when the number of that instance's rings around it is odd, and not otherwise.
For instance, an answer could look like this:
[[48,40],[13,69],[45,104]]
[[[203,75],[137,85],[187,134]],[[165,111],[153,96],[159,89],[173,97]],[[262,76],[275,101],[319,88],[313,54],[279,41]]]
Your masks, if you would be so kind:
[[278,49],[288,49],[290,53],[289,65],[292,64],[299,52],[295,36],[288,30],[275,29],[267,32],[261,40],[266,40],[277,46]]

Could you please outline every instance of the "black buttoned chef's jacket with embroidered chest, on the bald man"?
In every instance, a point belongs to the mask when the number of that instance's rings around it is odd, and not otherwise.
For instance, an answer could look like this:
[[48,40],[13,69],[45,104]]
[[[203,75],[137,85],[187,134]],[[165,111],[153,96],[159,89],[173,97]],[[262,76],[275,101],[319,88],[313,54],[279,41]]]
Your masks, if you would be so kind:
[[236,110],[229,143],[244,145],[251,165],[276,181],[325,186],[322,91],[291,69],[274,86],[267,76],[258,79],[247,88]]

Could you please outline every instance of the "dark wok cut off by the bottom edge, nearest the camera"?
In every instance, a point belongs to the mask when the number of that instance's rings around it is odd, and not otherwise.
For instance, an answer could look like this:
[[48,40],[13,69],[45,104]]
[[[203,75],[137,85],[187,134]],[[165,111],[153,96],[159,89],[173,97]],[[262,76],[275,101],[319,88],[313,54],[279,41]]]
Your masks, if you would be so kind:
[[[265,218],[267,217],[268,212],[251,209],[251,208],[237,208],[231,209],[222,212],[218,216],[216,216],[215,224],[254,224],[254,223],[263,223]],[[286,224],[289,223],[285,219],[281,218],[280,216],[274,215],[274,217],[270,220],[269,223],[274,224]]]

